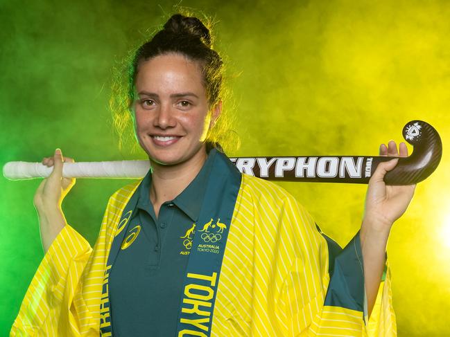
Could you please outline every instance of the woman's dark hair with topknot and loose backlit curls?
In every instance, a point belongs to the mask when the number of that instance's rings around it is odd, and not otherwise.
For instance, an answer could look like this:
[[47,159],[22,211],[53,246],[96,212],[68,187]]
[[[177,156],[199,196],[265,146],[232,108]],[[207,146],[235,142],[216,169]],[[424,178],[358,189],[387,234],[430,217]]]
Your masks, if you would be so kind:
[[[212,49],[213,38],[207,25],[197,17],[189,17],[181,14],[172,15],[152,39],[142,44],[132,55],[128,66],[128,83],[126,93],[123,85],[116,81],[112,88],[112,100],[110,107],[113,111],[113,123],[119,137],[123,138],[123,131],[128,127],[130,117],[132,118],[132,102],[135,100],[135,80],[141,62],[150,60],[158,55],[178,53],[189,60],[198,62],[203,75],[203,85],[207,94],[209,107],[214,107],[223,100],[223,61],[214,49]],[[115,87],[114,87],[115,85]],[[123,95],[126,98],[123,98]],[[114,97],[116,96],[116,97]],[[126,109],[125,108],[126,105]],[[125,113],[125,111],[127,113]],[[221,115],[224,115],[222,113]],[[220,116],[218,122],[207,135],[208,147],[215,146],[220,149],[218,143],[226,142],[230,120]],[[121,140],[119,147],[121,147]]]

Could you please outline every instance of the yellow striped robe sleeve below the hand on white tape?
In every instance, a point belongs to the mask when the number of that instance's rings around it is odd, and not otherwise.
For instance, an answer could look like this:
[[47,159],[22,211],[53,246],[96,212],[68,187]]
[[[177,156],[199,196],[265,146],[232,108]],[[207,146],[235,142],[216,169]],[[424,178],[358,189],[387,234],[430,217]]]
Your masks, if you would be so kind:
[[67,306],[91,252],[76,230],[69,225],[62,228],[28,286],[10,336],[57,336],[61,317],[73,314]]

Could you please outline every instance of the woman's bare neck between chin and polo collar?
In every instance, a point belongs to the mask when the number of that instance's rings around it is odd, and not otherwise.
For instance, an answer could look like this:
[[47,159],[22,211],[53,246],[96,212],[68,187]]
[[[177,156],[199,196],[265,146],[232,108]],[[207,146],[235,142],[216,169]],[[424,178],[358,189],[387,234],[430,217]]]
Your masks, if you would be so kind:
[[161,165],[150,159],[153,167],[150,201],[158,215],[162,203],[175,199],[196,178],[207,158],[205,148],[189,161],[177,165]]

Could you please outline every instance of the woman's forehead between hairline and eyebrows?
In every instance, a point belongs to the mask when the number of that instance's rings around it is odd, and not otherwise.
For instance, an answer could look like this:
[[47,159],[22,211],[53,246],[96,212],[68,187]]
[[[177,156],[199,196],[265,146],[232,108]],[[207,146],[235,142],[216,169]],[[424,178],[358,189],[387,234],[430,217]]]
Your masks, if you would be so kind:
[[135,86],[138,93],[205,93],[200,64],[180,54],[158,55],[140,62]]

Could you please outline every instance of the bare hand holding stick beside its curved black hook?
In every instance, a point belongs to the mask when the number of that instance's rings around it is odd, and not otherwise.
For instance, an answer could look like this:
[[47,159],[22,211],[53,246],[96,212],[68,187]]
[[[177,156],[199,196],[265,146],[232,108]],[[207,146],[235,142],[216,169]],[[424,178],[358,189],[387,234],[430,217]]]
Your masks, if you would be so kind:
[[[388,146],[381,144],[381,156],[408,156],[408,148],[405,143],[397,144],[390,140]],[[393,186],[386,185],[383,178],[386,172],[397,165],[398,159],[392,159],[380,163],[369,181],[367,195],[365,197],[365,212],[363,223],[368,222],[374,230],[389,232],[394,221],[404,214],[413,198],[415,185]]]

